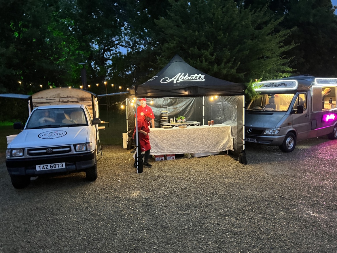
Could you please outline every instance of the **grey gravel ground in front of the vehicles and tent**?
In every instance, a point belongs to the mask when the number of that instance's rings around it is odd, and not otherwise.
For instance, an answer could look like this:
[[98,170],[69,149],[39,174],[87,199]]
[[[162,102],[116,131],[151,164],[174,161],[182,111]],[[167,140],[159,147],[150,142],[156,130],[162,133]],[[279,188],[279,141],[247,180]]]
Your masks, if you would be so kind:
[[0,157],[0,252],[337,252],[337,140],[152,161],[104,146],[99,178],[16,190]]

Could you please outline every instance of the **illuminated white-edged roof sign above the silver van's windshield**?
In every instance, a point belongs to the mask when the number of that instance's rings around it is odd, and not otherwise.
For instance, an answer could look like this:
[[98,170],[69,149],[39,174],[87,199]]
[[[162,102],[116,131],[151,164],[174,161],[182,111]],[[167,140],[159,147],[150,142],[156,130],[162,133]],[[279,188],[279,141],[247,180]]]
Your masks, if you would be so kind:
[[275,91],[278,90],[296,90],[298,87],[297,80],[270,80],[255,83],[253,88],[256,91]]

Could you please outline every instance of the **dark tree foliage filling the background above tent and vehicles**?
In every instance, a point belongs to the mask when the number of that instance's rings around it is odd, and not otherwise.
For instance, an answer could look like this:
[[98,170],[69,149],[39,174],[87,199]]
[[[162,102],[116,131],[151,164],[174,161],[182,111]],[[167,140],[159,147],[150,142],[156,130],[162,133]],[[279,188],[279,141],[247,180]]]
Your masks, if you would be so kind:
[[[105,80],[120,91],[175,54],[209,75],[247,83],[250,93],[255,79],[337,74],[329,0],[0,0],[0,7],[1,93],[79,87],[80,62],[88,83],[101,84],[94,92],[105,92]],[[22,107],[6,106],[12,117]]]

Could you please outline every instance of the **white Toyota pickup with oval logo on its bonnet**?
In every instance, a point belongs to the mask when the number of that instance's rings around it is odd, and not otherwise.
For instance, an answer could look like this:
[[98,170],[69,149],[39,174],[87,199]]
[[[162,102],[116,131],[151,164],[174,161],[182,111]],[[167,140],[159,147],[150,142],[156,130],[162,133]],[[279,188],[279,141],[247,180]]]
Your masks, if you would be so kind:
[[97,178],[97,124],[86,105],[39,106],[6,150],[12,185],[25,188],[31,176],[85,171]]

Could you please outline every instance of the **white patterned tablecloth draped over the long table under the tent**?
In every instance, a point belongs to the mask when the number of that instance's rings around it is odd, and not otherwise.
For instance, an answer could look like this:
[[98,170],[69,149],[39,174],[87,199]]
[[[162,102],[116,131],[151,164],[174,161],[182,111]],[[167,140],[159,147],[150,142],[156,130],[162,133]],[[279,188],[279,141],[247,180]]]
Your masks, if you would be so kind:
[[196,125],[187,128],[151,128],[150,154],[205,153],[233,150],[231,126]]

